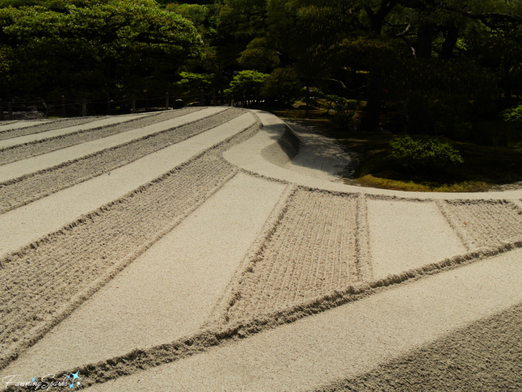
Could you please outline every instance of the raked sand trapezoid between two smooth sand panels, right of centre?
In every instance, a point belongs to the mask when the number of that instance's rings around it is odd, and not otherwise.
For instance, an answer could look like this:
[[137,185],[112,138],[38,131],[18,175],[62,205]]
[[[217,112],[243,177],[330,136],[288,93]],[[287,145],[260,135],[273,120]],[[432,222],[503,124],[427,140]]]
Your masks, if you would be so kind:
[[262,259],[235,289],[228,318],[281,311],[357,281],[356,213],[352,196],[297,191]]

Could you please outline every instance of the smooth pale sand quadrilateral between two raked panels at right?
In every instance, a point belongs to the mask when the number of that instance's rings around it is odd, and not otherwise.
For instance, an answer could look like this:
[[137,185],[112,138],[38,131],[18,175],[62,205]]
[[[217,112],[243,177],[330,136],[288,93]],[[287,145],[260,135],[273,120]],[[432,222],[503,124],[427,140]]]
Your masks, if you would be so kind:
[[368,200],[367,206],[374,279],[467,252],[435,203]]

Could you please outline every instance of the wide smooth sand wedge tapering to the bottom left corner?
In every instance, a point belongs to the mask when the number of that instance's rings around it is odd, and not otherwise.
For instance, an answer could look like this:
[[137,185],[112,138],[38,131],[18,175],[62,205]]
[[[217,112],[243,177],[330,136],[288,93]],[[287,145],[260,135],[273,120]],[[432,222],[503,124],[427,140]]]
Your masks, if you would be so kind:
[[72,369],[194,333],[283,189],[237,175],[3,374]]

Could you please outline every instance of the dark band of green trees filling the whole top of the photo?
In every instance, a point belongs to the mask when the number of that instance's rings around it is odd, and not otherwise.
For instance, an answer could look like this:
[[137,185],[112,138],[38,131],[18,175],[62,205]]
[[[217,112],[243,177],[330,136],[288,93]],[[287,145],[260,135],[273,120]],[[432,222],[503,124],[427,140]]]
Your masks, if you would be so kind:
[[516,104],[516,0],[0,0],[0,98],[148,91],[402,105],[410,133]]

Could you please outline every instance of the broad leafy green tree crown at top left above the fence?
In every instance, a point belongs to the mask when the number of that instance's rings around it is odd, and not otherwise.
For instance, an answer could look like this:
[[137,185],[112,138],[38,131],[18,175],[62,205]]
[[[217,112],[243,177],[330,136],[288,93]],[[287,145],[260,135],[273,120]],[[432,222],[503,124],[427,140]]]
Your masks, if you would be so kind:
[[[0,9],[1,87],[143,89],[202,45],[192,23],[153,0],[63,0]],[[71,87],[73,86],[73,87]],[[38,90],[37,90],[38,91]]]

